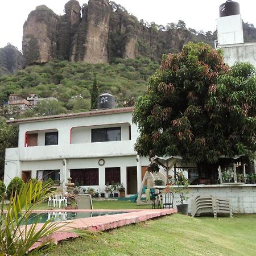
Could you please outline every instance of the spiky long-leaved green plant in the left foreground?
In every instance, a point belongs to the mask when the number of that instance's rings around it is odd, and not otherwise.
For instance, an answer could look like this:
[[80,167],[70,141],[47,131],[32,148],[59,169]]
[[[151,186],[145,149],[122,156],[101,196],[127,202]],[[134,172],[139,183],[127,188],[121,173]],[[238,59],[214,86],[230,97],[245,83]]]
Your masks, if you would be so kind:
[[[32,181],[22,185],[22,188],[10,198],[6,210],[3,210],[4,202],[2,200],[0,215],[0,255],[25,255],[30,248],[38,241],[39,246],[30,251],[30,255],[39,255],[48,250],[50,240],[42,240],[53,232],[56,232],[60,225],[56,222],[47,220],[44,224],[28,225],[32,218],[32,210],[35,210],[43,201],[50,196],[51,184],[43,185],[42,182],[34,183]],[[65,224],[63,224],[65,225]]]

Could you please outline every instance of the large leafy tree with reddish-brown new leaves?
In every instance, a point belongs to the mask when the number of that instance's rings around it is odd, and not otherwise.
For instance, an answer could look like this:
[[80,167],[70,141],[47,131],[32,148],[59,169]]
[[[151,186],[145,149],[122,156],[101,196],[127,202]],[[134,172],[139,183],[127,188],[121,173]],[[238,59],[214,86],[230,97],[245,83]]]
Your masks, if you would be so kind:
[[225,65],[221,51],[188,43],[163,56],[148,93],[138,98],[133,121],[144,156],[180,155],[216,163],[219,156],[256,151],[256,78],[253,65]]

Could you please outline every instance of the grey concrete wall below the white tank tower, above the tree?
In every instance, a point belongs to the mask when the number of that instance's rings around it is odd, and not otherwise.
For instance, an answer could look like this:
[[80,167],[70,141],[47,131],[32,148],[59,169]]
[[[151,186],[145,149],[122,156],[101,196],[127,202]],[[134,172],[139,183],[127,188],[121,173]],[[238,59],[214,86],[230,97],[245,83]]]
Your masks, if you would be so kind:
[[230,66],[234,65],[236,61],[247,62],[256,67],[256,43],[244,44],[229,44],[227,46],[218,46],[224,51],[225,63]]

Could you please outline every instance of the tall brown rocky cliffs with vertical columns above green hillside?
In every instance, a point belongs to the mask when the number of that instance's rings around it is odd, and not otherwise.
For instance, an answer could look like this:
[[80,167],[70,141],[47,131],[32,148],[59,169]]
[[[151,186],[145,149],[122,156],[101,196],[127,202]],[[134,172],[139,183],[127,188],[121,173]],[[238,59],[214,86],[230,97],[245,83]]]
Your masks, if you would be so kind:
[[[255,28],[244,24],[244,31],[245,40],[256,39]],[[108,63],[115,57],[139,55],[159,61],[163,53],[179,52],[189,41],[213,46],[216,38],[216,34],[195,33],[184,27],[146,26],[109,0],[89,0],[82,9],[79,2],[71,0],[63,16],[46,6],[38,6],[28,15],[23,31],[24,65],[52,59]]]

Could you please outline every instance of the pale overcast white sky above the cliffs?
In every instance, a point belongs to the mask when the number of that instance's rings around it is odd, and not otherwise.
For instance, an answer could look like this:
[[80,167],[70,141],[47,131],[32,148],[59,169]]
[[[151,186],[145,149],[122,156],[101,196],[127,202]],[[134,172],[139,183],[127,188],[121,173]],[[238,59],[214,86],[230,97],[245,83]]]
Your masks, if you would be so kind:
[[[0,0],[0,48],[7,43],[22,49],[23,24],[30,11],[38,5],[47,5],[56,14],[63,14],[68,0]],[[80,0],[80,5],[88,0]],[[195,30],[216,30],[218,7],[225,0],[115,0],[125,9],[147,22],[165,26],[184,20],[187,27]],[[242,19],[256,27],[255,0],[240,0]]]

